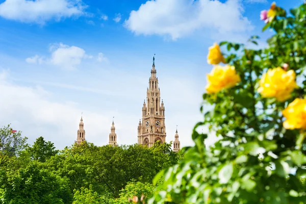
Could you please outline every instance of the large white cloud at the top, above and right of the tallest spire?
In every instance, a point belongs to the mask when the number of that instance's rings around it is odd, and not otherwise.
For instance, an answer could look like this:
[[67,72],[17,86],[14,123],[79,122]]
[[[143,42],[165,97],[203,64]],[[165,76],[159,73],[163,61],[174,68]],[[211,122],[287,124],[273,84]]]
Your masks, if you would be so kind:
[[168,35],[175,40],[201,29],[224,34],[249,31],[252,25],[242,13],[241,0],[156,0],[132,11],[124,26],[137,35]]

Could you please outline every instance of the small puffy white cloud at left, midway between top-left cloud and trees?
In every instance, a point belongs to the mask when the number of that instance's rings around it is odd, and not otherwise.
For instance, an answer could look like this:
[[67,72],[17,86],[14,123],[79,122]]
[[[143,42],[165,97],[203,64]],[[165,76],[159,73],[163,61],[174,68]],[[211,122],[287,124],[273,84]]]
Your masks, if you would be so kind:
[[[64,69],[73,70],[81,64],[84,59],[93,59],[92,55],[87,55],[85,50],[77,46],[69,46],[63,43],[54,43],[49,47],[51,53],[50,58],[46,60],[39,55],[25,59],[26,62],[32,64],[47,63],[51,65],[60,66]],[[102,54],[98,54],[98,61],[108,62],[108,59]]]

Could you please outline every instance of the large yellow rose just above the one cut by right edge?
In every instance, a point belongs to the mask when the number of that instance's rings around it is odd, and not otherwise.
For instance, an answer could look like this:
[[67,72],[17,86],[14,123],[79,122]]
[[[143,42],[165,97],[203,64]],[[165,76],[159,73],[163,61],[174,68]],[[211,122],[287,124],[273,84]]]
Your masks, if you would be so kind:
[[265,98],[275,97],[278,101],[285,101],[296,87],[295,72],[277,67],[263,74],[258,92]]

